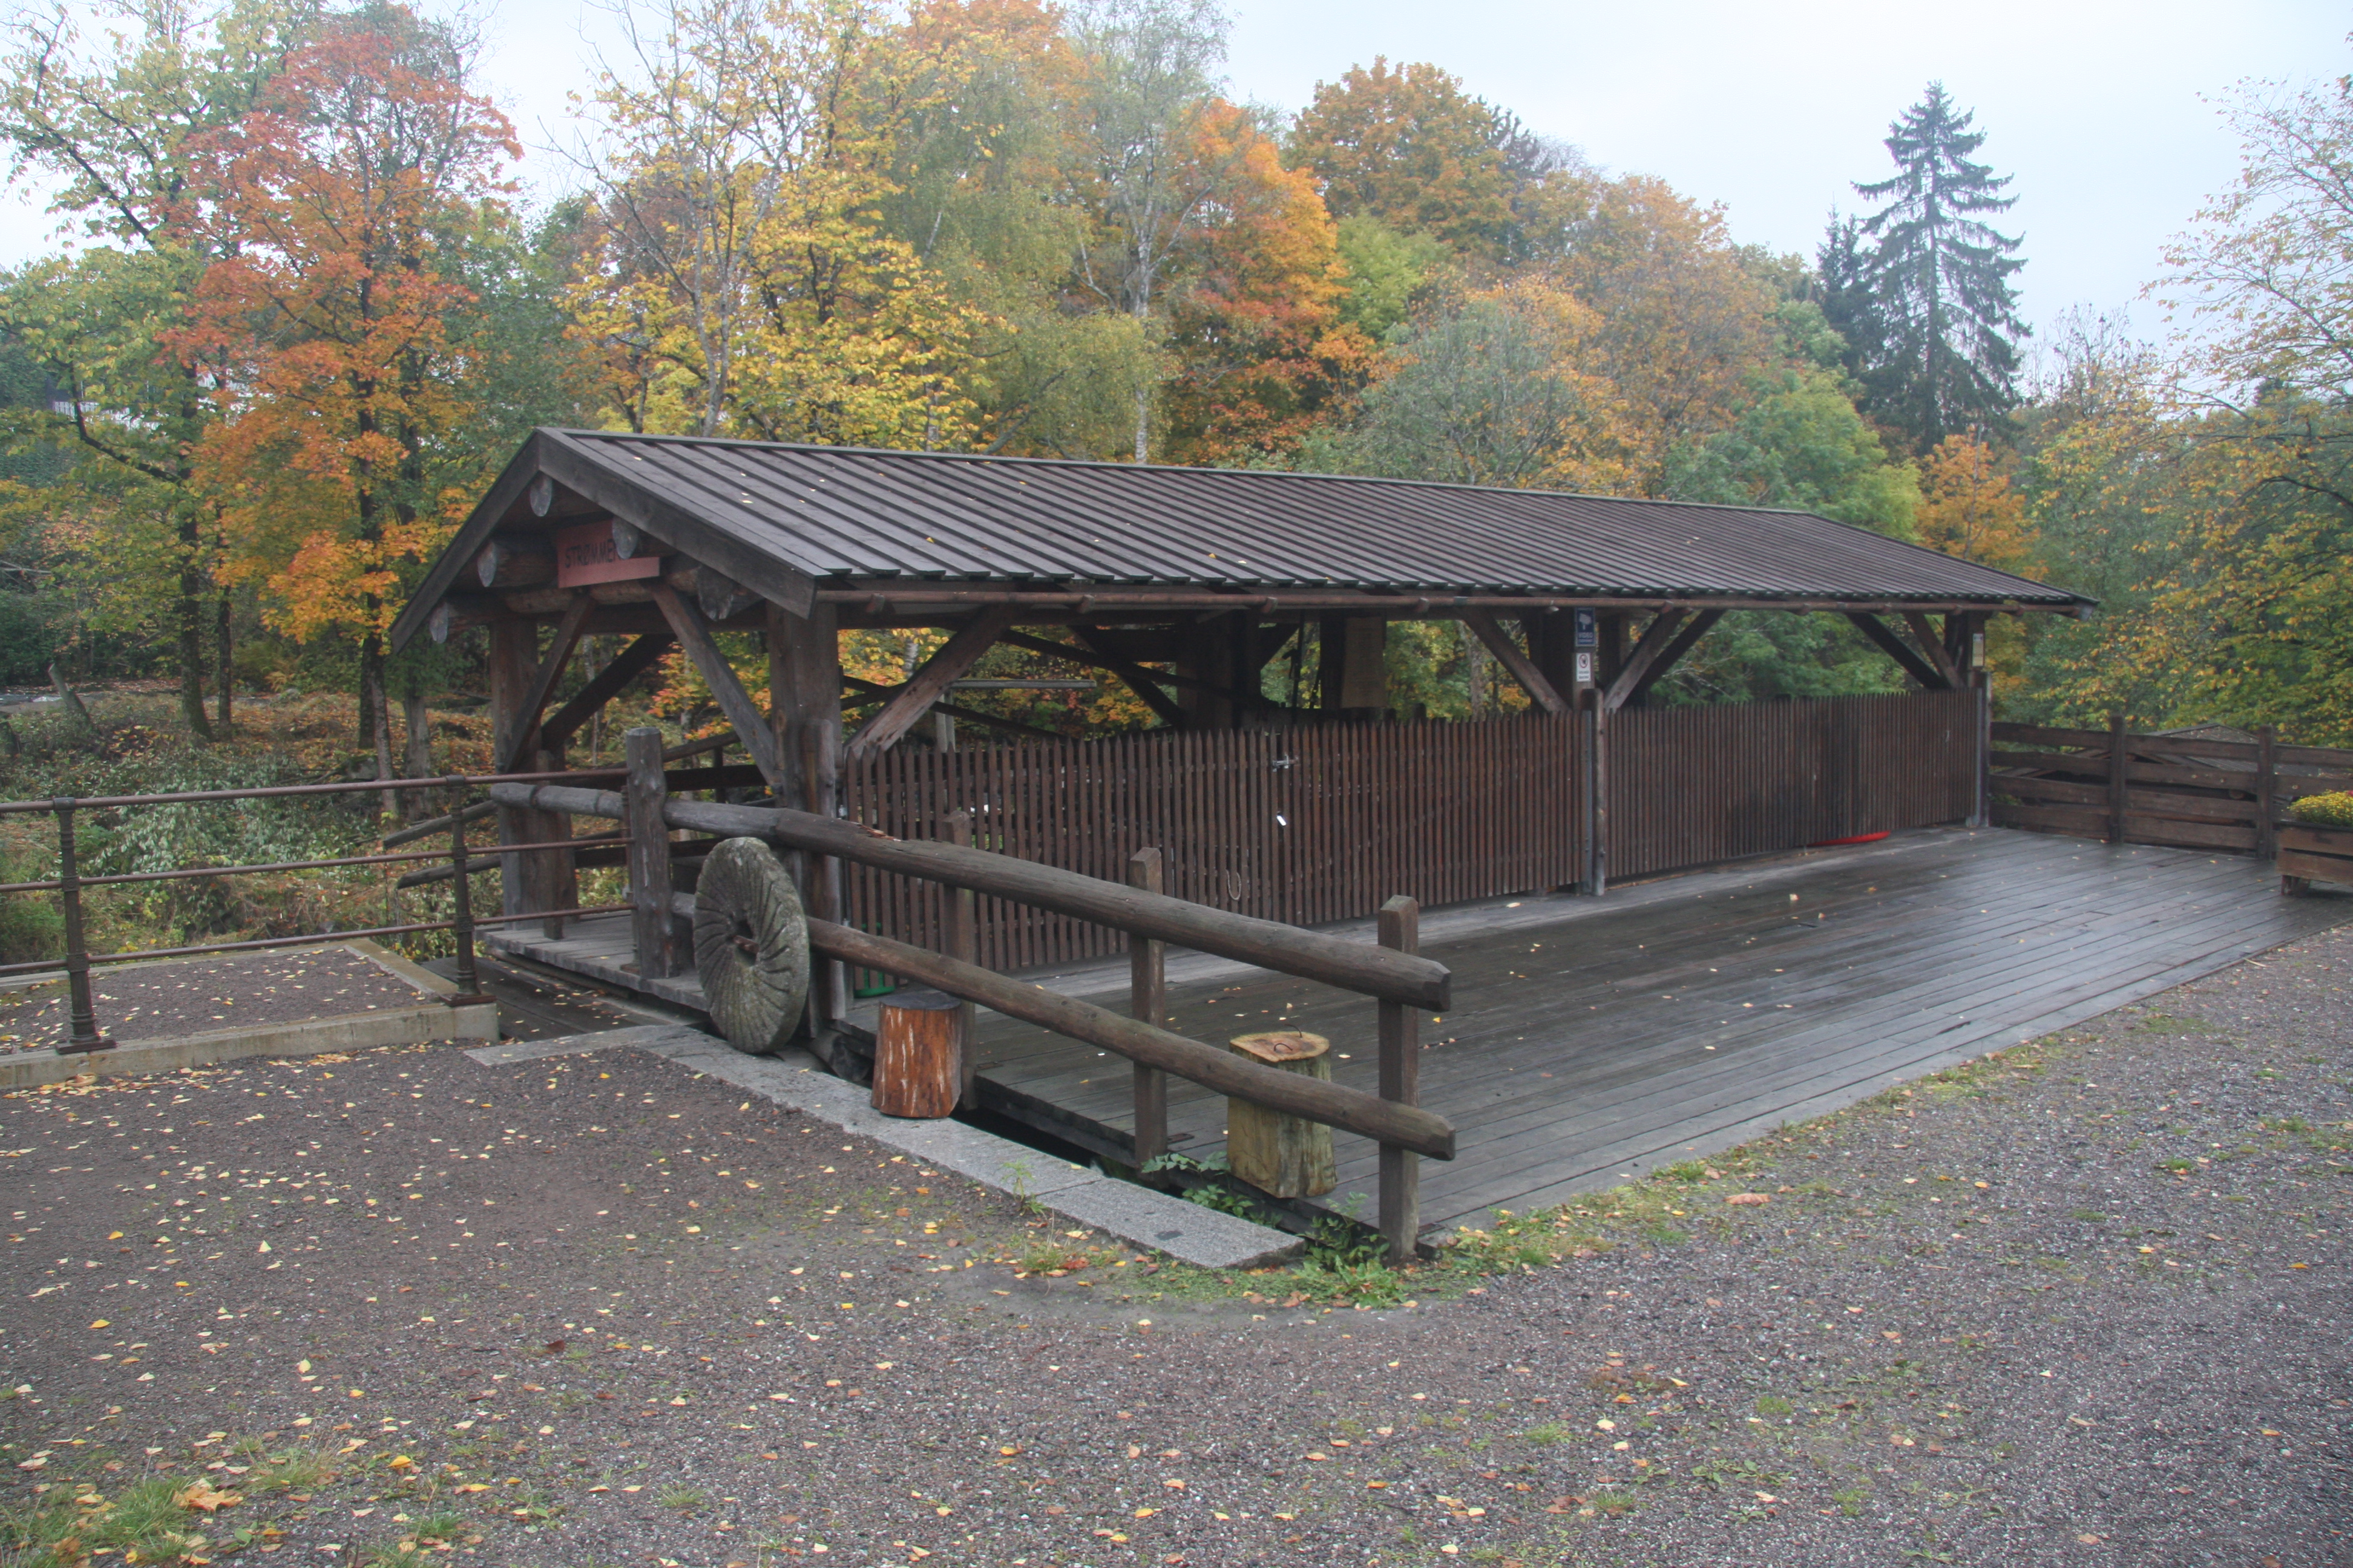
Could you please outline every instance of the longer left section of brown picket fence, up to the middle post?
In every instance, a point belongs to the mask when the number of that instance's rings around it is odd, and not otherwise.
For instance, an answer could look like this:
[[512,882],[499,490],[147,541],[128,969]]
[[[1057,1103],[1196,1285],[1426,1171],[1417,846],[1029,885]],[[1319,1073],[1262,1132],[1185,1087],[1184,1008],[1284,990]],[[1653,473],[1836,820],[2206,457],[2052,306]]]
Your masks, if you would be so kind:
[[[894,837],[972,816],[981,849],[1089,877],[1125,877],[1158,846],[1167,891],[1318,926],[1407,893],[1424,907],[1579,879],[1584,769],[1577,719],[1322,724],[1153,731],[849,759],[849,816]],[[849,919],[932,945],[936,889],[847,867]],[[1106,957],[1120,936],[1028,905],[981,900],[981,964]]]

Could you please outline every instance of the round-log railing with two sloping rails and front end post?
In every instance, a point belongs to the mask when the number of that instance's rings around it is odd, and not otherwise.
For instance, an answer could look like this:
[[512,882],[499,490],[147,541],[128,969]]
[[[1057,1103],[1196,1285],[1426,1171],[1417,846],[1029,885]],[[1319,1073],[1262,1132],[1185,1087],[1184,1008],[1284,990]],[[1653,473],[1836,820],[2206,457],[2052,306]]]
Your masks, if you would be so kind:
[[[929,952],[826,919],[809,922],[809,947],[824,959],[932,985],[1007,1018],[1054,1030],[1101,1051],[1115,1051],[1153,1074],[1172,1072],[1212,1093],[1372,1138],[1381,1145],[1381,1234],[1393,1260],[1414,1253],[1419,1234],[1414,1161],[1424,1154],[1452,1159],[1454,1126],[1417,1105],[1419,1037],[1414,1011],[1445,1009],[1452,999],[1452,973],[1445,964],[1414,952],[1419,905],[1412,898],[1393,898],[1381,910],[1381,943],[1365,945],[967,844],[894,839],[873,827],[809,811],[682,802],[659,795],[659,773],[647,778],[633,773],[628,792],[518,783],[492,785],[492,799],[527,811],[562,811],[642,825],[659,820],[664,827],[758,837],[807,856],[871,865],[958,893],[1005,898],[1096,922],[1127,933],[1139,947],[1172,943],[1374,997],[1381,1004],[1381,1093],[1245,1063],[1202,1041],[1172,1034],[1146,1018],[1122,1018],[1075,997],[1009,980],[967,957]],[[642,830],[633,827],[633,832]],[[1146,879],[1139,877],[1139,882]],[[692,907],[689,900],[680,898],[678,903]],[[969,940],[965,945],[969,947]],[[1148,1074],[1139,1072],[1139,1088],[1144,1084],[1148,1084]],[[1148,1138],[1148,1128],[1139,1126],[1139,1133]]]

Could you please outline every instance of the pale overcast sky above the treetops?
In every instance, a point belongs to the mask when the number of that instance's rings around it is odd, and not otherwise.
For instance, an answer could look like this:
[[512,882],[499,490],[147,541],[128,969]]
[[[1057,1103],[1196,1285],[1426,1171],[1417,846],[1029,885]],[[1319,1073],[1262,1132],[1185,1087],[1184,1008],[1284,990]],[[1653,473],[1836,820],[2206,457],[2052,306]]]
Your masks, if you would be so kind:
[[[593,78],[609,16],[567,0],[478,0],[487,85],[544,146]],[[2221,190],[2238,146],[2217,103],[2245,78],[2353,68],[2353,7],[2320,0],[1228,0],[1233,92],[1294,110],[1374,54],[1433,61],[1612,172],[1722,202],[1741,242],[1812,254],[1847,181],[1880,179],[1887,122],[1934,78],[2017,176],[2026,317],[2129,306],[2167,235]],[[431,9],[431,7],[428,7]],[[546,129],[544,129],[546,127]],[[534,188],[558,160],[525,160]],[[38,202],[0,212],[0,261],[49,249]],[[2158,329],[2155,310],[2134,320]]]

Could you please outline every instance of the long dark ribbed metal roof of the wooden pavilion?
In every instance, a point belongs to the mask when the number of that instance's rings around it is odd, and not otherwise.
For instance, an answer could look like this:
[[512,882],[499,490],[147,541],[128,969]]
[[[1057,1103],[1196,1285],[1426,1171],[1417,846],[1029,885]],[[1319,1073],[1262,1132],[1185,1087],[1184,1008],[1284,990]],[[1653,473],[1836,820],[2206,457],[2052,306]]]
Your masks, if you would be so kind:
[[525,465],[581,494],[626,491],[635,505],[605,505],[656,536],[673,531],[664,517],[689,522],[729,557],[833,585],[2089,604],[1812,512],[598,430],[539,430],[454,550],[471,555],[518,505]]

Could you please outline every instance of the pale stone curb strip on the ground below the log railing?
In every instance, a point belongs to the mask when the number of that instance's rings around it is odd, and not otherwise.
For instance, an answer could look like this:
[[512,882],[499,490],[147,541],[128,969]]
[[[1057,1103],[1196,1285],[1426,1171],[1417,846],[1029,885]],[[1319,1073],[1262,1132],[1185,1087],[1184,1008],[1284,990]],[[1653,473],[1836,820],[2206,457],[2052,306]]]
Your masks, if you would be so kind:
[[546,1056],[574,1056],[609,1048],[638,1048],[661,1056],[689,1072],[746,1088],[786,1110],[814,1117],[908,1159],[1028,1204],[1040,1204],[1068,1220],[1111,1232],[1134,1246],[1148,1246],[1205,1269],[1259,1269],[1299,1255],[1304,1241],[1268,1225],[1252,1225],[1231,1213],[1188,1204],[1167,1192],[1099,1175],[1009,1138],[984,1133],[962,1121],[904,1121],[885,1117],[866,1091],[847,1084],[805,1051],[744,1056],[727,1041],[682,1025],[642,1025],[560,1039],[518,1039],[468,1051],[473,1060],[496,1067]]

